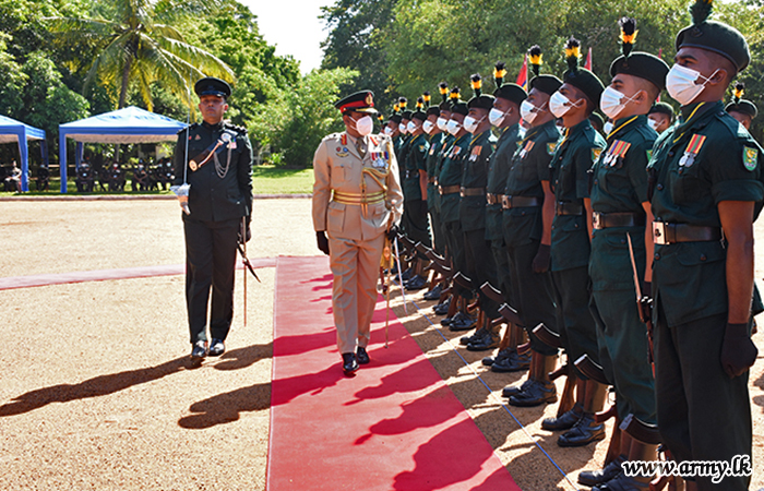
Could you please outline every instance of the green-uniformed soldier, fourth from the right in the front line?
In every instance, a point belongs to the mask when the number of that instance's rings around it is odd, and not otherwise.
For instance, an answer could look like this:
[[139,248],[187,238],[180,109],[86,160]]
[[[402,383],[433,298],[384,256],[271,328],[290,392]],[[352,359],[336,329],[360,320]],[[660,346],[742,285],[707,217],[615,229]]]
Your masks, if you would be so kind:
[[529,129],[512,156],[503,200],[503,228],[512,280],[517,292],[517,311],[530,338],[528,380],[520,387],[506,387],[503,395],[514,406],[537,406],[557,400],[549,372],[557,363],[557,348],[542,343],[533,333],[539,324],[556,331],[554,288],[549,271],[554,194],[549,184],[549,165],[560,139],[556,118],[549,110],[549,97],[562,81],[541,75],[541,48],[528,50],[536,76],[530,81],[521,113]]

